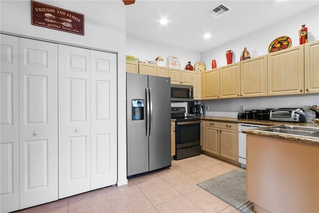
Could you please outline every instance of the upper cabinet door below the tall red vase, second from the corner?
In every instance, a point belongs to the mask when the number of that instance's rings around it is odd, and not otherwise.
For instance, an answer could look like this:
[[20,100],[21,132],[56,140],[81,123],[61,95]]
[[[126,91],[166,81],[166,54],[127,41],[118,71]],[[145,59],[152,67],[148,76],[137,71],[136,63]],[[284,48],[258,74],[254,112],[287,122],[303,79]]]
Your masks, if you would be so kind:
[[240,63],[220,67],[220,98],[239,98]]

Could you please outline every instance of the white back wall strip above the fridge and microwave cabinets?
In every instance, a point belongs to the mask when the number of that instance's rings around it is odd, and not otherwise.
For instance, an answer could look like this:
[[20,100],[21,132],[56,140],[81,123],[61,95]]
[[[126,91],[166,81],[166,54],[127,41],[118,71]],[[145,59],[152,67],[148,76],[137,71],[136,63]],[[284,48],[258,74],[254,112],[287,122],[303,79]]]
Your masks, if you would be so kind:
[[199,53],[134,38],[132,36],[126,37],[126,54],[134,55],[140,60],[148,61],[155,61],[155,58],[160,55],[164,58],[163,66],[167,66],[167,57],[175,56],[180,61],[181,69],[185,69],[188,61],[190,61],[193,66],[195,63],[200,62]]

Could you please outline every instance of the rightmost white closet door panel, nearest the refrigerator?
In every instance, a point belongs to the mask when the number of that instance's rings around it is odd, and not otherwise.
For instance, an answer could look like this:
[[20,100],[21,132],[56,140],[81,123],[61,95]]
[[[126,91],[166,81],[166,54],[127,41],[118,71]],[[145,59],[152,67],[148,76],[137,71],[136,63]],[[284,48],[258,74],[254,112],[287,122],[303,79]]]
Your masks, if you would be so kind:
[[117,55],[91,50],[91,190],[117,181]]

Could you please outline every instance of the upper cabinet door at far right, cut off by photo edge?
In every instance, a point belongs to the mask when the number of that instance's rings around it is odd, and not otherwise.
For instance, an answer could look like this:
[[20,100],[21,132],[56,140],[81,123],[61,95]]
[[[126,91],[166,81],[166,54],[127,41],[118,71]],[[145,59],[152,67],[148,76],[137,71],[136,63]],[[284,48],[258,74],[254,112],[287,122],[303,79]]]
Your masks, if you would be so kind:
[[305,89],[319,92],[319,40],[305,44]]

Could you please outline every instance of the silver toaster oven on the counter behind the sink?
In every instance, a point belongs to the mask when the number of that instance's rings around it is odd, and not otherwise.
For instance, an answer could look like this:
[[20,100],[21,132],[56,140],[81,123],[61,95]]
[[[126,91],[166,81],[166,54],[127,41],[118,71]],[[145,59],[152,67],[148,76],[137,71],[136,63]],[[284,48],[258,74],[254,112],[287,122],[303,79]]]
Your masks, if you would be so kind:
[[[272,109],[270,112],[271,121],[286,121],[286,122],[306,122],[306,117],[304,115],[296,113],[298,108],[279,108]],[[302,109],[303,108],[299,108]]]

